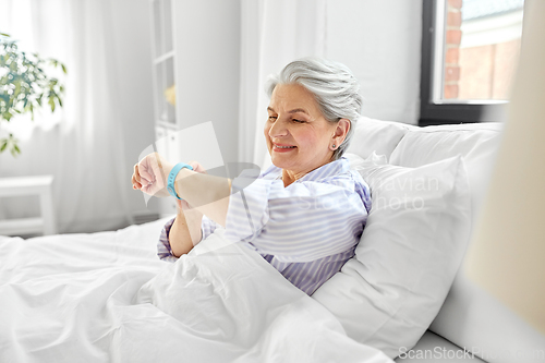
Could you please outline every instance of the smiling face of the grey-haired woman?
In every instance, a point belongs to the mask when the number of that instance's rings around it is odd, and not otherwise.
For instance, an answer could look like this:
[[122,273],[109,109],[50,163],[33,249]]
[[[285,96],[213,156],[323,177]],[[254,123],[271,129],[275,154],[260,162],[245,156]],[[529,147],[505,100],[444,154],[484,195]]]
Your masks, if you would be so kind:
[[331,160],[338,128],[324,118],[306,88],[277,85],[267,110],[264,133],[275,166],[304,174]]

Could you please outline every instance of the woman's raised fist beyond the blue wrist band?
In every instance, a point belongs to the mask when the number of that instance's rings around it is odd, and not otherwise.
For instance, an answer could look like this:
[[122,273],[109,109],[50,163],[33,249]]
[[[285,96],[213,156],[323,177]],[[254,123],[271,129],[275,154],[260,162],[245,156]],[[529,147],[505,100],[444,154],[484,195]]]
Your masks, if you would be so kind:
[[132,177],[133,189],[159,197],[169,196],[167,178],[173,165],[158,153],[146,155],[134,166]]

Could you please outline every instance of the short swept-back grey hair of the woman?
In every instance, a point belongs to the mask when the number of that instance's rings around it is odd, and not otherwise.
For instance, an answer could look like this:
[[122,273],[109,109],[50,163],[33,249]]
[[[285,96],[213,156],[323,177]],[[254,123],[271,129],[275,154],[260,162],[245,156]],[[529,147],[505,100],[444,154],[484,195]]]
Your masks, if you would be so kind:
[[286,65],[279,74],[270,75],[265,90],[270,97],[278,84],[293,83],[302,85],[314,95],[327,121],[350,121],[347,137],[334,152],[332,159],[339,159],[350,145],[361,114],[363,99],[360,95],[360,83],[342,63],[320,58],[302,58]]

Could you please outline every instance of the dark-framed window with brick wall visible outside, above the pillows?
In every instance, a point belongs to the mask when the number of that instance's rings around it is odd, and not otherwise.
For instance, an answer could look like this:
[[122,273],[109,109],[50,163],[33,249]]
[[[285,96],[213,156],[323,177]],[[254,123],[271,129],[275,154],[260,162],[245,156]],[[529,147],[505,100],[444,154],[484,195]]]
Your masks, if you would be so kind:
[[524,0],[424,0],[420,125],[497,121],[519,59]]

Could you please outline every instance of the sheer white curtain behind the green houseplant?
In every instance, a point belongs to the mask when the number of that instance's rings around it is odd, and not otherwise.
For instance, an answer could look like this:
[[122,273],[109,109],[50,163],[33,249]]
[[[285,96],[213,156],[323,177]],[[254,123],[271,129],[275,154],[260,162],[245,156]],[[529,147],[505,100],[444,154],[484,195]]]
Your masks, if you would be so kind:
[[[109,0],[0,0],[0,32],[21,46],[66,64],[64,108],[12,119],[22,155],[0,155],[0,177],[53,174],[60,232],[96,231],[131,221],[124,136],[118,111],[120,85]],[[21,122],[20,122],[21,121]],[[2,125],[5,132],[5,125]],[[21,128],[20,128],[21,129]],[[27,217],[29,199],[2,201],[5,218]]]

